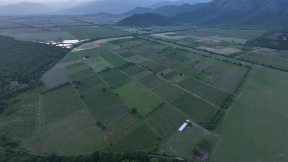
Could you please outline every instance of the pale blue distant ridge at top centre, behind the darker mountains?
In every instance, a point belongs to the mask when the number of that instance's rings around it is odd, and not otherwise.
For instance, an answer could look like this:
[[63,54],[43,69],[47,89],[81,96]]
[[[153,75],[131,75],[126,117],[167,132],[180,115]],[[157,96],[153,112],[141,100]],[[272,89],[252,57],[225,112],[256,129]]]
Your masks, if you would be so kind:
[[149,8],[155,9],[155,8],[159,8],[162,6],[167,6],[167,5],[182,5],[182,4],[196,4],[196,3],[206,3],[206,2],[210,2],[211,0],[177,0],[177,1],[161,1],[155,4],[152,4],[151,6],[149,6]]

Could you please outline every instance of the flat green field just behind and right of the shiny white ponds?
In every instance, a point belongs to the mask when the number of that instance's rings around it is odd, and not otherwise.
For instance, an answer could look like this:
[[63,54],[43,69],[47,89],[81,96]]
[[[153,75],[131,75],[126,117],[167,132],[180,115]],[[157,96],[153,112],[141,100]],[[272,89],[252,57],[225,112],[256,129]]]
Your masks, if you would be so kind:
[[129,35],[129,33],[120,30],[100,26],[64,27],[63,29],[80,40],[121,37]]

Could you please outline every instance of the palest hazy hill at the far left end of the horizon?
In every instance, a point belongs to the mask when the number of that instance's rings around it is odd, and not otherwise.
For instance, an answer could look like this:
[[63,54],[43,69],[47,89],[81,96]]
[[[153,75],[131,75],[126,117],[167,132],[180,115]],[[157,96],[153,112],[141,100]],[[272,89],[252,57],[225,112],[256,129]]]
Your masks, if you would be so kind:
[[21,2],[0,7],[0,15],[32,15],[54,12],[55,9],[41,3]]

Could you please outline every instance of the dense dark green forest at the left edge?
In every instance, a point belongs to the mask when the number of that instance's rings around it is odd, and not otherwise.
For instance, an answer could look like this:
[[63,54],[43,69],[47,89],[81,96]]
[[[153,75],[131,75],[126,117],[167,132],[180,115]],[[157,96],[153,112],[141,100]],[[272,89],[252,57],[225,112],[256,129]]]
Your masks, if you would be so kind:
[[0,36],[0,112],[5,108],[5,100],[42,85],[41,76],[68,52],[50,44]]

